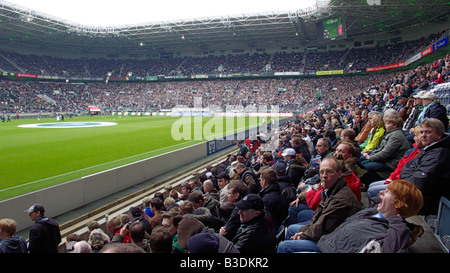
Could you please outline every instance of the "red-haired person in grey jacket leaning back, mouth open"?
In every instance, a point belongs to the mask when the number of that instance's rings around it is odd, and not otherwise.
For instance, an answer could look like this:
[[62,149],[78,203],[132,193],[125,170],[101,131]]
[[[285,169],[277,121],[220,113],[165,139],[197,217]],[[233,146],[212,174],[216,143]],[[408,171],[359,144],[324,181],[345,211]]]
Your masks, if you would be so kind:
[[407,252],[411,230],[405,218],[415,215],[422,205],[423,197],[416,186],[406,180],[394,180],[381,192],[376,208],[357,212],[333,232],[323,235],[317,249],[327,253]]

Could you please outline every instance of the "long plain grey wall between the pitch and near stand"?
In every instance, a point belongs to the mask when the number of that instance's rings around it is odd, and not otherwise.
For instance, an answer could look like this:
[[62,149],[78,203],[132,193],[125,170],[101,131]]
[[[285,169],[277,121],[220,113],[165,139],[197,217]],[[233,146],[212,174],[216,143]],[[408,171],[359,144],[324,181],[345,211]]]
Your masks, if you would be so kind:
[[34,203],[43,204],[46,216],[53,218],[198,161],[207,155],[207,143],[200,143],[3,200],[0,202],[0,218],[14,219],[18,225],[17,230],[21,231],[33,224],[24,211]]

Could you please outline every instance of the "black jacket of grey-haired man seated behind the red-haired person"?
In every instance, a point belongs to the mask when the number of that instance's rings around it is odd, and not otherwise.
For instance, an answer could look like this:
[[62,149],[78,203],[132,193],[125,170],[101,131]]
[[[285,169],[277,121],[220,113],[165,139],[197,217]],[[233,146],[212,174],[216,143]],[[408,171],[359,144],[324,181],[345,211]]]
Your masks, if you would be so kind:
[[400,179],[414,183],[422,192],[423,207],[419,214],[436,215],[441,196],[450,199],[450,136],[427,147],[408,161]]

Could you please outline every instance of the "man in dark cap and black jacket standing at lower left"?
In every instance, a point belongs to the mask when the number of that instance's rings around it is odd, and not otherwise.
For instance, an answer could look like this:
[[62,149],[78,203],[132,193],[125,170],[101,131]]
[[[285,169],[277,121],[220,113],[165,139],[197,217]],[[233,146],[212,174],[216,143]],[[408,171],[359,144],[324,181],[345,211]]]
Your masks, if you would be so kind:
[[58,253],[61,233],[58,223],[45,217],[41,204],[34,204],[25,211],[34,224],[30,228],[28,251],[30,253]]

